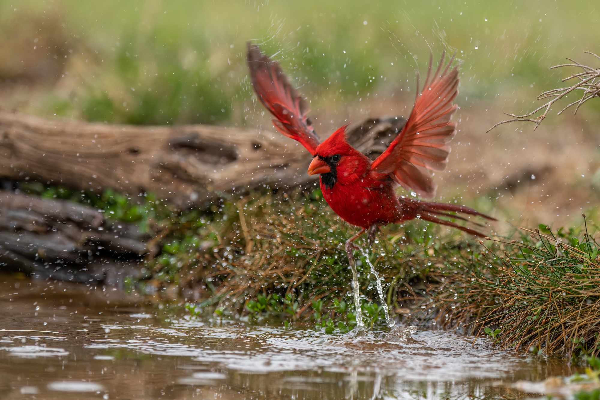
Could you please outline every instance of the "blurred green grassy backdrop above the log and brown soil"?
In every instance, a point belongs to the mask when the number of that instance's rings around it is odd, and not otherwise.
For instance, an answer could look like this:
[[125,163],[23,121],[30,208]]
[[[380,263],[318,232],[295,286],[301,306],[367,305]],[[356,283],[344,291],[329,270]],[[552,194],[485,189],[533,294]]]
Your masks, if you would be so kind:
[[463,61],[461,96],[531,100],[565,74],[548,67],[598,51],[600,22],[592,0],[3,0],[0,10],[2,108],[131,124],[256,124],[247,40],[281,60],[313,109],[414,91],[415,69],[444,48]]

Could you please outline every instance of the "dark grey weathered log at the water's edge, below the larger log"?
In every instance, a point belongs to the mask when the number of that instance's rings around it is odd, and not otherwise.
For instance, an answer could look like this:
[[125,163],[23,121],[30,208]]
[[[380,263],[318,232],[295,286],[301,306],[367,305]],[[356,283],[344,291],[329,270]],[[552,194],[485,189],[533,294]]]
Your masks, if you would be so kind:
[[93,207],[0,191],[0,271],[115,285],[141,276],[151,236]]

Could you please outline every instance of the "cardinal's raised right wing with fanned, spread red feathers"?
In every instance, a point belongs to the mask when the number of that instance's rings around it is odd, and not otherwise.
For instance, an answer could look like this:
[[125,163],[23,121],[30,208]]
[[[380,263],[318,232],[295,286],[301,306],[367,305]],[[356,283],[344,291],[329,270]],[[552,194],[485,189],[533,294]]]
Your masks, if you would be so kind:
[[454,56],[443,68],[445,55],[444,52],[433,77],[433,59],[430,60],[423,91],[416,98],[409,120],[371,165],[373,177],[389,176],[404,189],[414,190],[424,198],[432,198],[437,187],[427,169],[446,168],[450,153],[446,143],[456,132],[456,123],[450,120],[458,108],[453,104],[458,94],[458,68],[450,69]]

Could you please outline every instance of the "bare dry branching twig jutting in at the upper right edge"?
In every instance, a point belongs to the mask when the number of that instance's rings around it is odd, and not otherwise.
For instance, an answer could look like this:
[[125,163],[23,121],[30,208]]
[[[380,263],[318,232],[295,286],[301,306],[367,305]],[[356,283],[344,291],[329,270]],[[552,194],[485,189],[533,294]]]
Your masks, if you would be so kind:
[[[595,56],[596,58],[600,59],[600,56],[596,55],[595,53],[592,53],[592,52],[585,52],[585,53],[591,54],[591,55]],[[515,115],[515,114],[505,113],[509,117],[514,117],[514,118],[512,120],[506,120],[506,121],[497,123],[490,129],[488,129],[487,132],[490,132],[490,130],[494,129],[495,127],[497,127],[499,125],[508,124],[508,123],[515,122],[515,121],[534,122],[535,127],[533,128],[533,130],[536,130],[536,129],[538,129],[539,124],[541,124],[542,121],[544,121],[544,118],[546,118],[546,116],[548,115],[548,112],[550,112],[550,108],[552,107],[552,105],[554,103],[556,103],[558,100],[560,100],[561,98],[565,97],[566,95],[568,95],[569,93],[571,93],[575,90],[583,90],[583,95],[581,96],[581,98],[579,100],[567,105],[565,108],[560,110],[557,115],[560,115],[560,113],[562,113],[566,109],[568,109],[572,106],[575,106],[575,105],[577,105],[577,107],[575,107],[575,114],[577,114],[577,111],[580,108],[580,106],[583,103],[587,102],[587,100],[590,100],[590,98],[593,98],[593,97],[600,97],[600,68],[588,67],[587,65],[580,64],[579,62],[574,61],[571,58],[567,58],[567,59],[569,61],[571,61],[573,64],[554,65],[554,67],[550,67],[550,69],[552,70],[554,68],[561,68],[561,67],[581,68],[583,70],[583,72],[580,72],[578,74],[574,73],[571,76],[566,77],[565,79],[562,80],[562,82],[565,82],[566,80],[577,79],[578,80],[577,83],[575,83],[572,86],[567,86],[565,88],[557,88],[557,89],[549,90],[547,92],[543,92],[542,94],[540,94],[538,96],[538,100],[543,100],[545,98],[551,98],[551,100],[549,102],[545,103],[544,105],[540,106],[539,108],[535,109],[534,111],[530,112],[529,114]],[[533,117],[533,115],[535,115],[542,109],[544,109],[544,113],[542,115],[539,115],[539,117]],[[533,117],[533,118],[528,118],[528,117]]]

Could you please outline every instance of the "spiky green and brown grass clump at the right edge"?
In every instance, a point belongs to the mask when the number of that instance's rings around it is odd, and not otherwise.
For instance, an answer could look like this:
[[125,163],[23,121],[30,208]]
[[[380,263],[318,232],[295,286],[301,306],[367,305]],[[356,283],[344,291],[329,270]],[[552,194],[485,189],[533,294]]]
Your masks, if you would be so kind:
[[502,347],[598,355],[599,246],[588,223],[583,231],[541,225],[518,241],[494,240],[447,276],[425,319],[485,333]]

